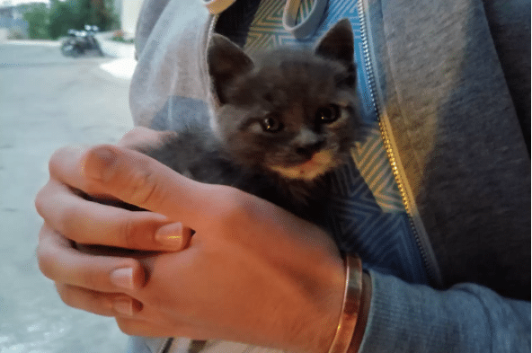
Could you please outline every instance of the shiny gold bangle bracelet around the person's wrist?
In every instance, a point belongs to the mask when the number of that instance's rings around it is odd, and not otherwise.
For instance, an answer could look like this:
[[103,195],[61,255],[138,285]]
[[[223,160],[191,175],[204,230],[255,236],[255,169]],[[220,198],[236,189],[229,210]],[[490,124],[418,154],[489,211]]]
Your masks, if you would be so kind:
[[362,260],[358,255],[345,256],[345,290],[340,320],[329,353],[345,353],[350,347],[362,296]]

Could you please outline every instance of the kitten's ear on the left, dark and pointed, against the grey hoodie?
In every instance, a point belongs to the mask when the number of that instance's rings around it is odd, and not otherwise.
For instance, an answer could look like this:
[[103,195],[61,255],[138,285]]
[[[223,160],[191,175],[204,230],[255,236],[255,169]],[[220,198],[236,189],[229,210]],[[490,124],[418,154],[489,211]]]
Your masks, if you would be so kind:
[[231,40],[214,33],[207,49],[208,74],[218,100],[226,103],[226,89],[237,76],[253,69],[253,60]]

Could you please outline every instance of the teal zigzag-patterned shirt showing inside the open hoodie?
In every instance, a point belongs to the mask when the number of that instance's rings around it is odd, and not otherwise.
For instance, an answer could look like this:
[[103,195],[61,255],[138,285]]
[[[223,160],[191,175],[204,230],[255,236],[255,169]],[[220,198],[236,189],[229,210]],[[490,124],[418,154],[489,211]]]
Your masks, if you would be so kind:
[[[360,113],[368,123],[368,138],[353,148],[350,163],[327,181],[332,195],[329,228],[341,250],[359,253],[366,267],[411,283],[428,283],[378,128],[364,65],[357,3],[329,0],[324,19],[315,34],[306,40],[296,40],[282,26],[286,0],[240,3],[236,2],[222,14],[217,31],[229,34],[252,53],[280,45],[312,44],[332,24],[349,18],[355,34]],[[310,12],[312,4],[313,0],[302,1],[298,21]],[[224,28],[229,23],[234,26],[231,33]]]

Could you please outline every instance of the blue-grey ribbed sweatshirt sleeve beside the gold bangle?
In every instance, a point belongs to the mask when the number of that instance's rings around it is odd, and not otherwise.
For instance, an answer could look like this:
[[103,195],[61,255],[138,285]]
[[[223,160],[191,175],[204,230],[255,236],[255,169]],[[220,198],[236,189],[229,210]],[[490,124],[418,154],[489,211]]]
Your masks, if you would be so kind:
[[530,303],[471,283],[439,291],[370,271],[359,353],[530,352]]

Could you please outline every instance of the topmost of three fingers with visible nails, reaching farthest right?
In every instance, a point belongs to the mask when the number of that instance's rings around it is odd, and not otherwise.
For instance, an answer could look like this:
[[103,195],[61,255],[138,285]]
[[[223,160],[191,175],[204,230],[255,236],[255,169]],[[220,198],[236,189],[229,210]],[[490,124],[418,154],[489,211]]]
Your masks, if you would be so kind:
[[66,185],[50,181],[35,206],[45,222],[76,243],[137,250],[181,250],[190,230],[153,212],[132,212],[85,200]]

